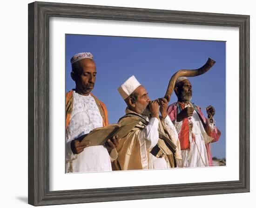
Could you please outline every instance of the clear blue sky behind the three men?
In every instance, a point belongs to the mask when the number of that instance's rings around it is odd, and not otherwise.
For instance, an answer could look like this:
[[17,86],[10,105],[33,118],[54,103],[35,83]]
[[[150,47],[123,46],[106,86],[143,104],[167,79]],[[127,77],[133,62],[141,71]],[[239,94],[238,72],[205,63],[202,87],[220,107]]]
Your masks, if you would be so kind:
[[[222,132],[212,144],[212,154],[226,156],[226,43],[224,41],[135,38],[66,34],[66,92],[75,88],[70,77],[70,59],[79,52],[91,52],[96,63],[97,77],[92,91],[108,108],[110,123],[125,114],[126,104],[117,88],[130,76],[148,90],[154,100],[165,95],[170,77],[179,69],[197,69],[208,59],[216,64],[202,76],[190,77],[192,102],[202,108],[215,107],[216,126]],[[169,104],[177,101],[175,93]]]

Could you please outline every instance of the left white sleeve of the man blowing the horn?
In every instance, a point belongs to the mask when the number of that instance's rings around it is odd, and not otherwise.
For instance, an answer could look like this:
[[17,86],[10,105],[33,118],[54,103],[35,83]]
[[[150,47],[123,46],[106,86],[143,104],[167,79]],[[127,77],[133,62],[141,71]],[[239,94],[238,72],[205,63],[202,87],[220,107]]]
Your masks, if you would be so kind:
[[159,124],[159,120],[157,118],[151,118],[149,120],[148,126],[146,126],[139,133],[139,139],[140,139],[141,145],[146,143],[147,149],[153,148],[158,142],[158,139],[159,139],[158,124]]

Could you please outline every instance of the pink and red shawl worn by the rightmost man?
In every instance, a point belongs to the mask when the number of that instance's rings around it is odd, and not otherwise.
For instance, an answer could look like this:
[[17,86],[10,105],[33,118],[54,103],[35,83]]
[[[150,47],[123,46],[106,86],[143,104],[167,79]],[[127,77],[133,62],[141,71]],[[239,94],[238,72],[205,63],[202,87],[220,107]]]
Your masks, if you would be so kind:
[[[205,129],[205,132],[207,133],[207,135],[209,137],[212,138],[212,139],[210,139],[211,142],[218,141],[220,136],[221,136],[221,132],[219,131],[219,129],[215,126],[213,131],[211,131],[209,125],[207,124],[207,118],[204,117],[201,108],[196,106],[194,103],[191,103],[191,104],[193,105],[196,113],[199,115],[199,118],[202,122],[202,125]],[[181,111],[182,111],[182,106],[181,106],[181,104],[179,104],[179,102],[175,102],[175,103],[171,104],[170,106],[168,106],[167,112],[168,112],[168,115],[169,115],[172,122],[176,121],[177,115]],[[187,119],[184,119],[183,121],[182,121],[182,129],[181,129],[180,132],[178,132],[180,143],[181,143],[181,150],[185,150],[185,149],[190,148],[190,144],[189,144],[189,122],[188,122]],[[203,137],[207,137],[207,135],[203,135]],[[210,143],[205,144],[205,147],[206,147],[206,151],[207,151],[209,166],[212,166],[211,144]]]

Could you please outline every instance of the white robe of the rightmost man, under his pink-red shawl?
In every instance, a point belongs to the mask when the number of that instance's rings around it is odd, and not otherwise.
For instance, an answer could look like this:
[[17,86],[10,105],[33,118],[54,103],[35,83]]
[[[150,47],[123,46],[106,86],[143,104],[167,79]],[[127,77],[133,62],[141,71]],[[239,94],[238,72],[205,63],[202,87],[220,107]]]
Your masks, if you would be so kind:
[[[189,104],[185,107],[190,106]],[[190,149],[182,150],[182,163],[177,163],[177,167],[205,167],[209,166],[207,151],[205,147],[205,141],[202,136],[202,132],[205,132],[202,126],[202,121],[200,120],[198,114],[194,110],[191,120],[189,122],[193,123],[192,132],[195,135],[195,141],[192,139],[192,133],[189,133],[189,143]],[[177,132],[179,133],[182,129],[182,121],[175,123]]]

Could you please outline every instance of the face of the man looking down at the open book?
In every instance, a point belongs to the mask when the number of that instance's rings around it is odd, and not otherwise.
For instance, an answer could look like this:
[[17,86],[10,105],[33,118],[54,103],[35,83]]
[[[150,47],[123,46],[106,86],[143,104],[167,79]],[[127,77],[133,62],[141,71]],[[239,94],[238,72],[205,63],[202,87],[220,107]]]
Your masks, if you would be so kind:
[[84,58],[80,61],[80,72],[75,77],[76,89],[81,95],[89,95],[96,80],[96,65],[92,59]]

